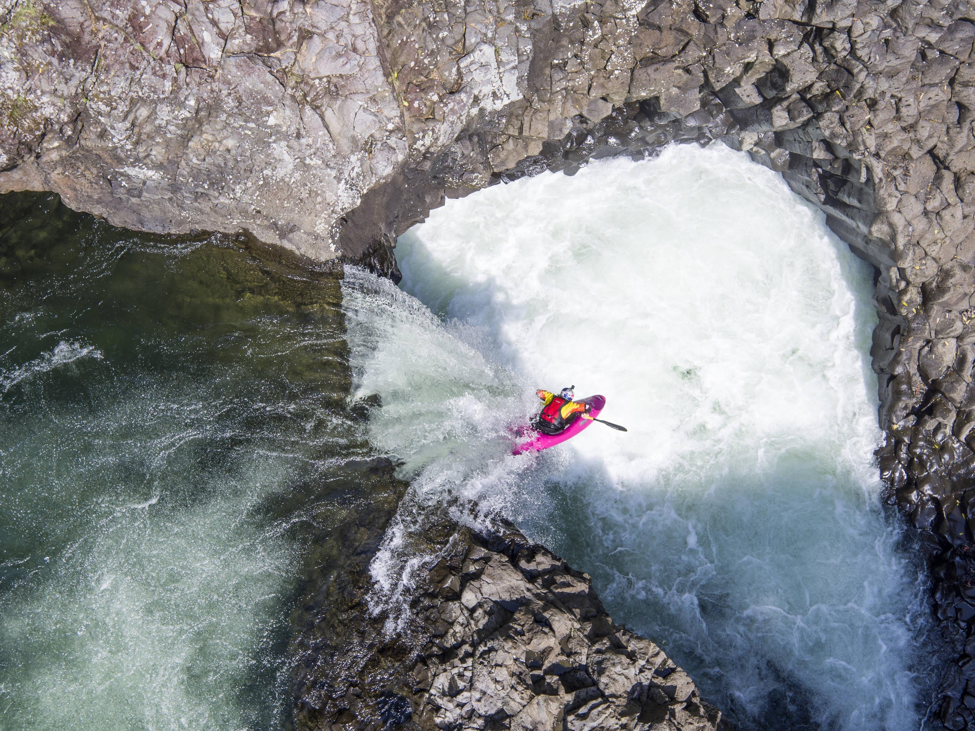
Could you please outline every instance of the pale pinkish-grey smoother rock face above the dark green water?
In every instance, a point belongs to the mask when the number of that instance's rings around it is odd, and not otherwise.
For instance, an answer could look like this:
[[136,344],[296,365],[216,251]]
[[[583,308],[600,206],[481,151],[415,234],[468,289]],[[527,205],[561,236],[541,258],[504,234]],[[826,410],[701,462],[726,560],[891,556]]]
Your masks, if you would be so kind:
[[3,0],[0,188],[130,228],[249,229],[318,259],[402,166],[370,3]]

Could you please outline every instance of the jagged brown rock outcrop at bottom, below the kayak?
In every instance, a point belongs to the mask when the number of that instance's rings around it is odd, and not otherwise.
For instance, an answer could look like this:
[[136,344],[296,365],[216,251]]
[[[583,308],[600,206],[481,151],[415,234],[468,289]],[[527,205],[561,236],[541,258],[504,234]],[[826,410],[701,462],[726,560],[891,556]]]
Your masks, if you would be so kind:
[[510,525],[439,531],[402,634],[384,635],[362,595],[306,603],[299,728],[717,728],[721,713],[659,647],[613,623],[586,574]]

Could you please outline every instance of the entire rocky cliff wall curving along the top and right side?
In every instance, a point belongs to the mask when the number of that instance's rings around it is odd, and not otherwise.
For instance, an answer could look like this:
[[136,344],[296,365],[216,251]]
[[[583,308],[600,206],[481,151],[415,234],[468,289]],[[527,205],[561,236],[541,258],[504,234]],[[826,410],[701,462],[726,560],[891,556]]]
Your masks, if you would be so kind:
[[952,0],[0,0],[0,190],[395,276],[446,195],[671,141],[783,174],[877,267],[890,501],[975,727],[975,11]]

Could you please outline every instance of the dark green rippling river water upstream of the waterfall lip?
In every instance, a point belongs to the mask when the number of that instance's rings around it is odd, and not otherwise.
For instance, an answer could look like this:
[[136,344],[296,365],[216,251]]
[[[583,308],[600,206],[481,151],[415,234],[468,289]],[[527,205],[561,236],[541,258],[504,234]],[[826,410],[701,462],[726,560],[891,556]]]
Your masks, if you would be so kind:
[[284,727],[301,581],[374,487],[339,295],[2,199],[0,729]]

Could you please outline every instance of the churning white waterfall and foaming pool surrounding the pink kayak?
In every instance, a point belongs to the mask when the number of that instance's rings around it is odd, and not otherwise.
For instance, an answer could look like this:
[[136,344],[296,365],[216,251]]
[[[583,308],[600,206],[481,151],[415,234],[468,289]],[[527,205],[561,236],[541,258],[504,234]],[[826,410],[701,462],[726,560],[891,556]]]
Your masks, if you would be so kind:
[[[342,285],[370,442],[412,480],[377,602],[425,516],[501,515],[741,727],[917,728],[926,610],[879,508],[872,275],[822,213],[742,154],[674,146],[449,201],[396,251],[402,291]],[[569,384],[629,433],[512,456],[534,389]]]

